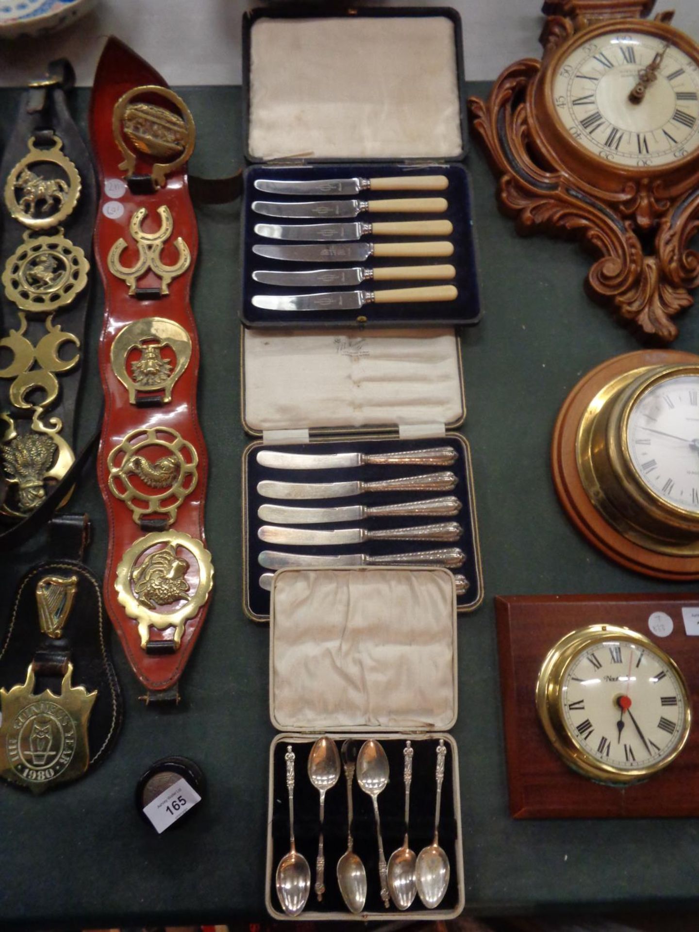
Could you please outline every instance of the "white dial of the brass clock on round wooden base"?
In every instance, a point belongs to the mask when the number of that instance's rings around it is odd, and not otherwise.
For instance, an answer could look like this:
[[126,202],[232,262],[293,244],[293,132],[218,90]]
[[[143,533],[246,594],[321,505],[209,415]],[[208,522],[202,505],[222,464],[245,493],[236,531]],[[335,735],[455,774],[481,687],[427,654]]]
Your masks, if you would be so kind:
[[699,371],[644,391],[629,412],[626,444],[640,481],[699,518]]

